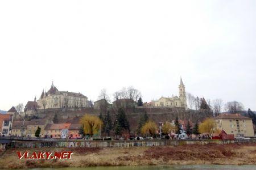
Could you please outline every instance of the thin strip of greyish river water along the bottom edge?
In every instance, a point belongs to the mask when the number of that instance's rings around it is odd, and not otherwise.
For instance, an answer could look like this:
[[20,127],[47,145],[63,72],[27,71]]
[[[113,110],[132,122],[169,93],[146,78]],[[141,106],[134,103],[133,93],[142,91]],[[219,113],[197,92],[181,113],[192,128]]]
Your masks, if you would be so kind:
[[[88,168],[32,168],[30,170],[171,170],[171,169],[224,169],[224,170],[255,170],[256,165],[152,165],[137,167],[88,167]],[[26,169],[27,170],[27,169]]]

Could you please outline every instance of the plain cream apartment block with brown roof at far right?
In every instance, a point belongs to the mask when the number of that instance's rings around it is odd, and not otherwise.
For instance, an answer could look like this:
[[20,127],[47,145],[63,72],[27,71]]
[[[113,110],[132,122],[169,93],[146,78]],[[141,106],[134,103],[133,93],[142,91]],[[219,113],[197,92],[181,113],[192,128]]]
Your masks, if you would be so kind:
[[227,134],[234,134],[234,137],[253,137],[253,122],[251,118],[240,114],[221,114],[214,117],[218,129],[224,130]]

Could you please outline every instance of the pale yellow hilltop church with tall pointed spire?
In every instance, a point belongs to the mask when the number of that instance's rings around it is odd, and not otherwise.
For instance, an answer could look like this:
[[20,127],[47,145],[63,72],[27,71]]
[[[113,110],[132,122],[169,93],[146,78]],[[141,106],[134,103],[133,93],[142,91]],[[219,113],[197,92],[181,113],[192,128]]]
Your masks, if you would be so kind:
[[152,102],[154,103],[154,107],[187,108],[185,86],[182,79],[180,78],[179,97],[160,97],[159,100],[154,100]]

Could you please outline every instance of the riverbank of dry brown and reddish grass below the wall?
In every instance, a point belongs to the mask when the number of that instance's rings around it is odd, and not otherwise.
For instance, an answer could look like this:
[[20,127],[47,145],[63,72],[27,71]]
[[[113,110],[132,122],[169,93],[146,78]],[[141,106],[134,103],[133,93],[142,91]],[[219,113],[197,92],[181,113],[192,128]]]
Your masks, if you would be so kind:
[[[18,159],[17,151],[73,151],[71,160]],[[36,167],[93,167],[160,164],[234,164],[256,165],[256,144],[183,145],[130,148],[19,148],[6,150],[0,169]]]

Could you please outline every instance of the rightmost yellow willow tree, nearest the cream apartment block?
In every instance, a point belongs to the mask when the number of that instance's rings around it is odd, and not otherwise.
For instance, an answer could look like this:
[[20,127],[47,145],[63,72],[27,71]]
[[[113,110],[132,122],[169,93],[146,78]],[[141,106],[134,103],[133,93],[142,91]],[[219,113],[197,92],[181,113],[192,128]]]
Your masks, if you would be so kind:
[[220,130],[217,128],[217,123],[213,118],[207,118],[199,125],[200,133],[213,134],[218,131]]

